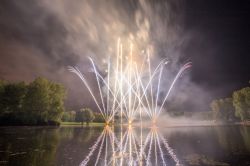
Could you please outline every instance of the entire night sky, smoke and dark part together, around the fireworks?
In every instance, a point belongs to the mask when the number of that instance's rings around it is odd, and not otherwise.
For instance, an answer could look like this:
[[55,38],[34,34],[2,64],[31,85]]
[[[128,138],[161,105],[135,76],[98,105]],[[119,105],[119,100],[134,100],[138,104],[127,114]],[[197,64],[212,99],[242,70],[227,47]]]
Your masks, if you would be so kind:
[[[176,64],[192,61],[185,73],[188,85],[208,96],[205,103],[249,85],[248,0],[70,2],[0,1],[0,79],[29,82],[44,76],[66,86],[69,107],[91,106],[86,89],[67,66],[86,71],[86,56],[103,58],[117,36],[144,32],[147,26],[141,28],[144,24],[134,19],[140,13],[148,19],[148,38],[158,57],[171,54]],[[197,97],[197,89],[190,89],[190,98]]]

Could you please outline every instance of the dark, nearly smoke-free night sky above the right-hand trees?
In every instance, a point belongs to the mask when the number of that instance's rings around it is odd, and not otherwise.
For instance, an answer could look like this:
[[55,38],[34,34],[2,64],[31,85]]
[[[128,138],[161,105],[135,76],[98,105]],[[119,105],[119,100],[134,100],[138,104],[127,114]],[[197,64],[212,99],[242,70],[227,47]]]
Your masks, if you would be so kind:
[[195,0],[186,5],[187,30],[203,37],[194,39],[186,52],[193,56],[193,80],[222,96],[249,85],[250,1]]

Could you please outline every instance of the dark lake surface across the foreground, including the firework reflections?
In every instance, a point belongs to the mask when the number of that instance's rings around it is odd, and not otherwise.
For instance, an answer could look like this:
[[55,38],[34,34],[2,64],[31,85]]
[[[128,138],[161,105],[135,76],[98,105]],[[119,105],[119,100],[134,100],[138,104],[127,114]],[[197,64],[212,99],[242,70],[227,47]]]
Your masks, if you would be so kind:
[[250,128],[0,128],[0,165],[84,164],[250,166]]

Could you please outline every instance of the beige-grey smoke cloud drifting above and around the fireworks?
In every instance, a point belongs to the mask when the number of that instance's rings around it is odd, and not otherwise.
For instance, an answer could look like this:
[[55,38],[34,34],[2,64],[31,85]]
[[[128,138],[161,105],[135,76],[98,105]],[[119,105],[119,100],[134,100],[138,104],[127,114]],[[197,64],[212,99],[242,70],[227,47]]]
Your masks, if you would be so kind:
[[[3,0],[0,6],[0,77],[31,81],[44,76],[61,82],[68,90],[68,108],[95,108],[80,80],[67,71],[78,66],[97,90],[88,56],[105,68],[107,56],[115,56],[116,42],[134,43],[135,52],[150,49],[154,62],[167,58],[163,89],[186,61],[186,46],[192,38],[183,29],[183,1],[146,0]],[[171,93],[168,103],[184,110],[204,110],[209,93],[186,71]],[[199,95],[199,97],[197,96]]]

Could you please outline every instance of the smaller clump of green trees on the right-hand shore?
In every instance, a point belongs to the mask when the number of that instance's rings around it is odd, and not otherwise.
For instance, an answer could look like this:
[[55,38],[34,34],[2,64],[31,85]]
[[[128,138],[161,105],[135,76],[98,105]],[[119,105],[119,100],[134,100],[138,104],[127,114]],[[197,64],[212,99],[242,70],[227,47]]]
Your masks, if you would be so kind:
[[250,120],[250,87],[234,91],[231,97],[210,104],[214,120],[224,122]]

